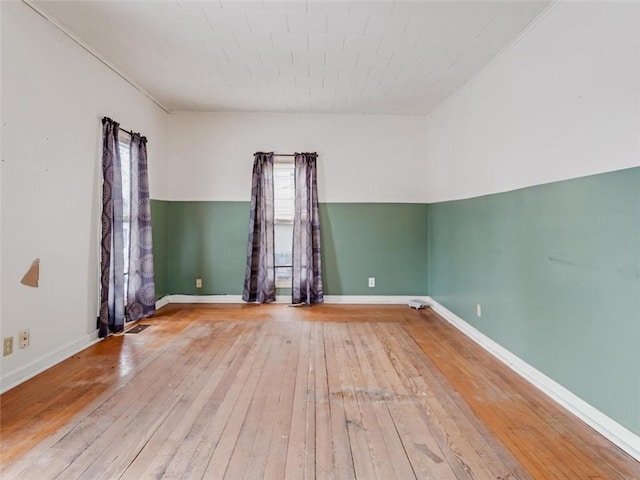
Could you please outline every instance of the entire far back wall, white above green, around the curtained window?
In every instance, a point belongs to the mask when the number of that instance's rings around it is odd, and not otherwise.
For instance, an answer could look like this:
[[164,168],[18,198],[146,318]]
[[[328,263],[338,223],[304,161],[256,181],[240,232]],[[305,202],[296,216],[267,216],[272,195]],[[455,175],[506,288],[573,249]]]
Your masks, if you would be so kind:
[[154,229],[167,249],[156,241],[167,258],[159,292],[241,294],[253,153],[310,151],[319,158],[325,294],[426,295],[425,125],[411,116],[171,115],[169,198],[153,204],[154,222],[167,226]]

